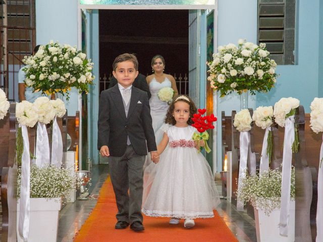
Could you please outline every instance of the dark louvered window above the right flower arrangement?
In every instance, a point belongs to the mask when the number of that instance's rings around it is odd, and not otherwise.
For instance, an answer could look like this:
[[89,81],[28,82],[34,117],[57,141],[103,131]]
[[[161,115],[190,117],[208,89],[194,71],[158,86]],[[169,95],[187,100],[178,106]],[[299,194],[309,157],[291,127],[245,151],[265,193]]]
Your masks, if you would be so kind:
[[295,65],[295,0],[258,0],[258,44],[278,65]]

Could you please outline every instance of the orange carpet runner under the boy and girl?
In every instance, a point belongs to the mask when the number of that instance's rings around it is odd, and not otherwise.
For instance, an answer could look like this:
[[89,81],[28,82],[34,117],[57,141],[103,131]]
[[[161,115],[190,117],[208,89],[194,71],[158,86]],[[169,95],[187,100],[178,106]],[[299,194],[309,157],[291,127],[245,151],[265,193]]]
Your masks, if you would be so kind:
[[104,182],[95,208],[75,236],[74,241],[238,241],[217,211],[214,218],[195,219],[195,226],[186,229],[183,219],[177,225],[169,218],[144,216],[145,230],[134,232],[129,227],[115,229],[117,205],[110,177]]

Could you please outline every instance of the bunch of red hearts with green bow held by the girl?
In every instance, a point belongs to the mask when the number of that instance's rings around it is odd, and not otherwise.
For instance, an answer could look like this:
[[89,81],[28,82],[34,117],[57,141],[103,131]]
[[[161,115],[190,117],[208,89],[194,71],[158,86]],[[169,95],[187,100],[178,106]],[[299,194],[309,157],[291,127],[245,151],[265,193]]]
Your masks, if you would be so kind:
[[[205,115],[202,116],[205,112],[206,109],[198,109],[198,113],[194,113],[192,117],[193,124],[192,126],[197,129],[199,133],[194,133],[193,134],[193,140],[197,141],[198,146],[200,146],[200,140],[204,141],[204,149],[207,153],[211,152],[211,149],[207,145],[207,140],[208,140],[208,133],[206,132],[207,130],[212,130],[214,129],[214,126],[212,125],[213,122],[217,121],[217,117],[214,116],[214,114],[210,115]],[[200,150],[201,148],[199,148]]]

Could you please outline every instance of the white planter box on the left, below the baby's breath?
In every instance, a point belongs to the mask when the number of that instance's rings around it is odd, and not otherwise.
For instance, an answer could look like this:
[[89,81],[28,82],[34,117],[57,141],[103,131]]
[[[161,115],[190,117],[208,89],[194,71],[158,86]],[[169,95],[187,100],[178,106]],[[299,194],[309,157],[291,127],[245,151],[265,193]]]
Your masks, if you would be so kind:
[[[28,242],[56,242],[61,210],[61,198],[31,198]],[[19,201],[17,205],[17,239],[19,236]]]

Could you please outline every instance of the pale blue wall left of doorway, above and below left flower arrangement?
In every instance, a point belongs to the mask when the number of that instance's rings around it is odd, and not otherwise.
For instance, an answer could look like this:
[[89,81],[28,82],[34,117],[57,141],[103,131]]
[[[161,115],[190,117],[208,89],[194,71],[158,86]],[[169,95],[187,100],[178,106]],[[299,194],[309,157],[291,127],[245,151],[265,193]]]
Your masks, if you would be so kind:
[[[36,1],[36,42],[49,40],[61,44],[78,44],[77,0]],[[71,91],[70,100],[64,100],[68,115],[78,110],[78,92]]]

